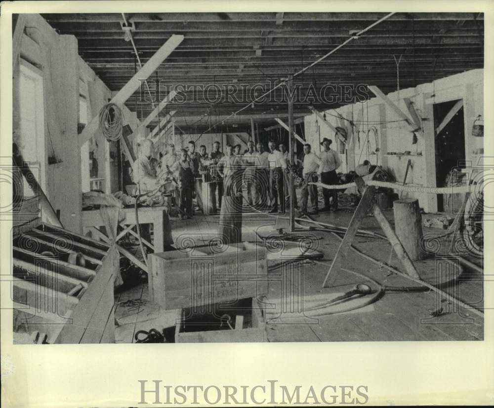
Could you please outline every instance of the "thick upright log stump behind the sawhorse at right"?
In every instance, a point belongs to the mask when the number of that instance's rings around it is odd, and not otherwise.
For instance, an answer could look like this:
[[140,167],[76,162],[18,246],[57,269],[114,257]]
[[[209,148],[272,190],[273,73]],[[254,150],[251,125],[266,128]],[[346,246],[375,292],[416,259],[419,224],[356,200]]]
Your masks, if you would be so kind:
[[420,248],[422,240],[422,216],[418,200],[405,198],[393,203],[395,232],[411,260],[424,259],[425,253]]

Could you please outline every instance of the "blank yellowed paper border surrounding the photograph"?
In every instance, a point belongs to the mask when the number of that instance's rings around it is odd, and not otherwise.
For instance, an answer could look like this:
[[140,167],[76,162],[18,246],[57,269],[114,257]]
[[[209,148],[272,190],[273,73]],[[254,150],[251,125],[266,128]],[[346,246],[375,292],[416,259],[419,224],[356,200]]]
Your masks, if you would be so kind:
[[[485,13],[485,154],[493,157],[492,1],[26,1],[1,4],[1,154],[11,154],[11,14],[210,11],[409,11]],[[489,132],[491,130],[491,132]],[[0,183],[0,203],[11,186]],[[492,188],[485,192],[492,206]],[[493,248],[486,226],[485,248]],[[10,225],[0,223],[1,274],[10,273]],[[485,341],[12,346],[9,285],[1,286],[3,407],[139,406],[138,380],[176,385],[365,385],[370,405],[494,404],[494,279],[486,251]],[[3,308],[7,307],[7,308]],[[306,391],[305,391],[306,392]],[[269,404],[263,404],[269,405]]]

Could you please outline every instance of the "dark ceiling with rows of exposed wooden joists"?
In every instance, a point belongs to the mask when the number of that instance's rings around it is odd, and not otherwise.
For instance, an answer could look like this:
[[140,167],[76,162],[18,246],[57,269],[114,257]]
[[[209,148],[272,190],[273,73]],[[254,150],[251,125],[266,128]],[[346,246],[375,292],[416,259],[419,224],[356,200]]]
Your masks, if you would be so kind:
[[[300,71],[385,15],[372,12],[127,13],[125,19],[135,27],[132,37],[142,64],[172,34],[184,35],[182,43],[148,83],[153,97],[160,100],[168,87],[180,85],[181,90],[188,87],[186,102],[175,101],[166,111],[176,110],[174,119],[180,129],[201,133],[215,123],[218,131],[228,131],[233,123],[249,129],[250,118],[259,129],[276,125],[274,117],[283,119],[288,113],[282,94],[284,86],[271,94],[271,101],[254,104],[226,118],[247,106],[252,97],[268,90],[269,81],[273,83]],[[43,17],[58,33],[78,38],[79,54],[111,90],[122,88],[138,70],[131,42],[124,40],[122,14],[43,14]],[[395,58],[398,61],[400,57],[401,89],[483,68],[483,14],[392,15],[294,78],[294,84],[300,86],[295,116],[308,114],[310,105],[322,110],[348,103],[351,99],[341,100],[342,90],[346,98],[354,98],[365,94],[362,92],[365,84],[377,85],[385,93],[396,90]],[[156,83],[160,84],[159,93],[155,93]],[[252,89],[255,84],[259,86]],[[208,89],[206,93],[202,91],[204,88]],[[145,88],[141,91],[126,105],[137,111],[139,118],[145,118],[152,106]],[[319,98],[311,99],[311,95]],[[143,101],[144,97],[147,102]],[[161,117],[166,111],[162,111]],[[157,123],[158,118],[150,127]]]

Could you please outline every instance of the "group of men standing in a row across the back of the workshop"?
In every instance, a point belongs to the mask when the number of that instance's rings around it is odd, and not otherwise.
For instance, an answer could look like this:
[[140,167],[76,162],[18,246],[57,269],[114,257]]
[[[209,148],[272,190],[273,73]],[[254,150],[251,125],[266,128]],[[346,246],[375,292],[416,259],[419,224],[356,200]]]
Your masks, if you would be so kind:
[[[307,213],[307,201],[310,196],[313,210],[318,212],[317,186],[311,182],[320,180],[325,184],[337,184],[336,169],[341,165],[339,155],[329,146],[331,141],[324,139],[321,145],[324,150],[320,156],[312,153],[311,146],[304,146],[303,185],[300,199],[300,213]],[[248,205],[258,211],[268,210],[269,213],[285,213],[289,202],[289,172],[292,170],[288,151],[284,144],[277,146],[269,142],[269,151],[264,150],[261,143],[247,143],[247,150],[242,152],[241,145],[227,145],[225,152],[220,150],[220,142],[214,142],[212,151],[207,153],[206,146],[196,150],[194,141],[188,148],[175,152],[170,144],[167,152],[156,161],[151,157],[152,144],[146,140],[140,146],[140,154],[134,164],[134,174],[138,179],[141,191],[159,188],[163,180],[173,180],[180,191],[180,218],[191,218],[193,215],[192,200],[196,196],[198,206],[205,212],[209,206],[209,214],[220,210],[222,197],[235,197],[241,205]],[[254,148],[255,147],[255,148]],[[202,201],[202,184],[209,185],[209,203]],[[247,189],[247,197],[242,190]],[[337,208],[337,190],[323,190],[325,210]],[[332,197],[332,203],[330,202]],[[295,196],[296,202],[296,196]]]

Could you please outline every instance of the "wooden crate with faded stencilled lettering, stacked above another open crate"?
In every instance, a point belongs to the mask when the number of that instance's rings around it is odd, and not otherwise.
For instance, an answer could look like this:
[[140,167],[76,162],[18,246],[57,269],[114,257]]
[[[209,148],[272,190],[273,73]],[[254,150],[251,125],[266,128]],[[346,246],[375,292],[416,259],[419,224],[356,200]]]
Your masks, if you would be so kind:
[[148,256],[151,301],[165,309],[259,296],[267,292],[266,248],[250,243],[198,246]]

